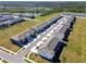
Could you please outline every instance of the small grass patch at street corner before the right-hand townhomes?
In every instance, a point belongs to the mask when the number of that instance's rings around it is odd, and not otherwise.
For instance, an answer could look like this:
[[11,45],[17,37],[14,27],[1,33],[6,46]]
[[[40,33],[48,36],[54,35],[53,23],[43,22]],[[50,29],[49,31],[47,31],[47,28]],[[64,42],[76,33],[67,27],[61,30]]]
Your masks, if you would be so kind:
[[37,63],[50,63],[49,61],[42,59],[41,56],[39,56],[38,54],[33,53],[33,52],[30,53],[30,55],[27,59],[33,60]]

